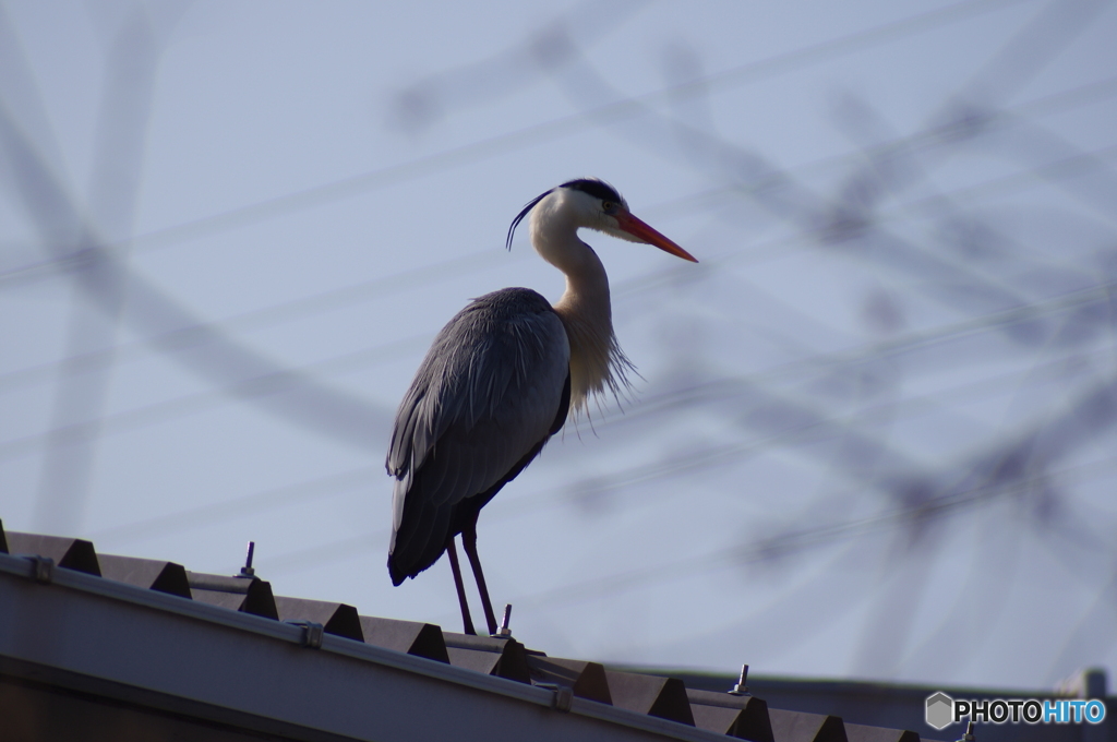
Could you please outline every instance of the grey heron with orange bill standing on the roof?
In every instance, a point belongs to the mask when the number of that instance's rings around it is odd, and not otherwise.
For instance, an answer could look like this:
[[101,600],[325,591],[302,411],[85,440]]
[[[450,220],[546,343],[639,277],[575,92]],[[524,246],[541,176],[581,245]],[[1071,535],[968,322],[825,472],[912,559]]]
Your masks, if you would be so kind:
[[466,634],[475,634],[454,539],[474,571],[489,634],[496,616],[477,558],[477,516],[592,396],[628,386],[613,335],[609,279],[581,228],[697,260],[629,211],[604,181],[579,179],[533,199],[532,246],[566,276],[552,306],[529,288],[474,299],[435,337],[395,415],[386,468],[394,477],[388,571],[399,586],[447,552]]

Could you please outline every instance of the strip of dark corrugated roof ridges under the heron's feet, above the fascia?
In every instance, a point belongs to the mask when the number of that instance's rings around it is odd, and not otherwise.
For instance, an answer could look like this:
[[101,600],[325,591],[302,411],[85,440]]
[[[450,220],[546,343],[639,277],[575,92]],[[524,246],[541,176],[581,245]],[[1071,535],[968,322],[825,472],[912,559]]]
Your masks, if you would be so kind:
[[[639,730],[638,736],[641,739],[649,732],[656,735],[656,739],[717,739],[718,736],[724,739],[725,735],[728,735],[753,740],[753,742],[917,742],[919,739],[914,732],[843,724],[838,716],[770,711],[763,700],[750,695],[688,691],[682,681],[678,678],[607,670],[598,663],[547,657],[543,653],[526,649],[524,645],[512,637],[467,636],[442,631],[440,627],[432,624],[360,616],[353,606],[346,603],[281,596],[277,598],[273,596],[270,583],[255,577],[251,570],[242,570],[242,573],[237,577],[227,577],[190,572],[173,562],[114,554],[98,555],[88,541],[28,533],[9,532],[6,534],[2,522],[0,522],[0,552],[6,550],[16,554],[37,555],[38,559],[31,560],[29,563],[4,556],[3,560],[9,561],[2,562],[2,562],[0,565],[4,568],[0,572],[20,574],[38,583],[58,582],[73,583],[70,587],[82,586],[84,590],[121,601],[124,603],[122,606],[124,610],[126,610],[127,605],[135,603],[155,608],[157,611],[172,616],[202,618],[203,621],[222,626],[226,630],[231,628],[242,631],[245,640],[248,640],[249,636],[270,636],[283,638],[288,644],[294,641],[297,645],[299,644],[298,637],[302,636],[304,647],[321,650],[324,653],[323,656],[350,656],[362,662],[375,662],[384,667],[394,668],[393,672],[413,675],[412,679],[419,684],[417,687],[426,682],[423,678],[441,678],[441,675],[449,674],[448,677],[441,679],[457,684],[465,683],[486,695],[496,694],[506,698],[529,701],[533,704],[538,704],[542,701],[544,707],[546,707],[546,700],[550,698],[553,713],[569,713],[586,720],[598,720],[598,722],[614,726],[620,725],[632,732]],[[73,570],[73,572],[57,572],[54,570],[55,565]],[[90,581],[90,578],[77,575],[76,572],[84,572],[96,579]],[[67,574],[74,577],[66,577]],[[109,587],[113,582],[124,584],[120,588]],[[135,588],[141,588],[142,591],[136,592]],[[193,598],[194,602],[180,602],[166,597],[146,598],[143,597],[144,591],[168,593],[179,598]],[[56,594],[52,591],[45,593],[32,591],[21,594],[55,596],[50,600],[56,603],[61,596],[61,593]],[[48,605],[50,600],[48,600]],[[197,603],[207,605],[197,606]],[[95,605],[88,603],[90,609]],[[275,622],[259,622],[249,617],[233,618],[233,613],[214,610],[212,608],[214,606],[219,609],[274,619]],[[101,606],[96,610],[103,608],[104,606]],[[82,613],[82,616],[86,616],[86,613]],[[79,616],[77,620],[80,622],[93,619],[88,617],[82,619]],[[304,634],[292,634],[295,630],[294,627],[284,626],[279,622],[280,620],[305,624]],[[268,626],[274,628],[268,628]],[[88,627],[83,626],[82,630],[86,634]],[[342,639],[324,638],[323,632],[342,637]],[[312,636],[313,639],[309,639]],[[0,638],[3,637],[0,636]],[[363,643],[367,646],[356,643]],[[15,646],[19,646],[19,644],[17,643]],[[390,651],[385,654],[384,649]],[[401,655],[411,655],[423,659],[416,660]],[[284,653],[265,653],[259,656],[257,662],[281,665],[294,657],[295,655]],[[427,665],[423,663],[423,660],[430,659],[439,664]],[[3,660],[2,655],[0,655],[0,660]],[[416,662],[420,664],[416,664]],[[437,669],[446,665],[451,665],[451,667]],[[336,667],[336,672],[341,672],[341,666]],[[309,667],[303,666],[300,672],[309,672]],[[516,683],[507,685],[504,684],[504,681],[491,681],[481,676],[505,678]],[[149,681],[155,683],[156,678],[159,682],[175,679],[154,675],[149,677]],[[218,678],[211,679],[217,681]],[[497,683],[497,685],[488,687],[486,683]],[[524,689],[513,692],[517,686]],[[540,696],[541,693],[544,695]],[[416,697],[412,701],[418,705],[407,713],[426,714],[428,712],[422,697]],[[261,701],[260,711],[268,703],[270,702]],[[466,710],[470,706],[467,704],[459,707]],[[280,704],[277,708],[286,707]],[[313,708],[316,706],[312,704],[308,711]],[[385,713],[393,711],[397,714],[403,713],[404,707],[397,708],[389,704]],[[483,721],[472,712],[470,714],[475,720],[474,723],[479,724],[477,729],[485,726],[490,721]],[[400,721],[394,719],[392,723]],[[246,729],[254,727],[252,725],[259,726],[261,723],[254,721]],[[575,724],[575,726],[577,725]],[[577,727],[583,731],[596,730],[592,726]],[[688,727],[690,731],[685,731]],[[264,727],[259,726],[259,729]],[[537,727],[536,731],[542,729],[544,727]],[[710,734],[715,736],[708,736]],[[593,736],[594,739],[613,739],[612,733],[600,736],[594,732]]]

